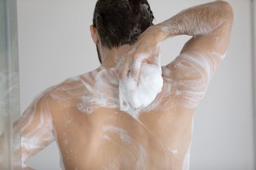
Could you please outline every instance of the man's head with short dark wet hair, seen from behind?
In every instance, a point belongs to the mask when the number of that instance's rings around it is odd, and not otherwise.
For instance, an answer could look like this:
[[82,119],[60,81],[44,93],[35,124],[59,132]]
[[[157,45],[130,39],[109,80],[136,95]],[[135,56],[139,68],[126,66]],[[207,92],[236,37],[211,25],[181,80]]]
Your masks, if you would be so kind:
[[[154,16],[147,0],[98,0],[91,35],[103,48],[133,45],[143,31],[153,25]],[[101,60],[100,60],[101,63]]]

